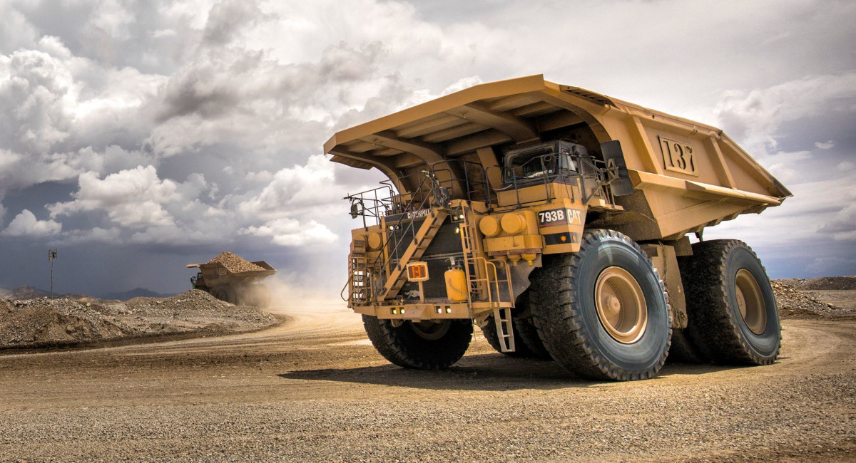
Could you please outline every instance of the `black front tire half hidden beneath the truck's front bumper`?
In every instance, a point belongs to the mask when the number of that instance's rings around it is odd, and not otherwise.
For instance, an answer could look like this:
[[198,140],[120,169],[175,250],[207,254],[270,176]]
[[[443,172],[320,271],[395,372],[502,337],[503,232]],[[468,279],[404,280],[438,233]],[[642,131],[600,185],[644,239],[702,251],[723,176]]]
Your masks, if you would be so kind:
[[405,321],[396,327],[390,320],[363,315],[363,325],[377,352],[405,368],[448,368],[461,360],[473,339],[473,322],[468,319]]

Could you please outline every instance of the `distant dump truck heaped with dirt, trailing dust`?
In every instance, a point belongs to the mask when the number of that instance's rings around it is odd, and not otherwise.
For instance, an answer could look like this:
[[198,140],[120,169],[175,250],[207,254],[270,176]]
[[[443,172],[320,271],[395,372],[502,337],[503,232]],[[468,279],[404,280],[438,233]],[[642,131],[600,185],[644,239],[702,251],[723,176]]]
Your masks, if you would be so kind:
[[203,290],[217,299],[239,306],[266,308],[270,305],[270,290],[261,280],[276,273],[265,261],[245,261],[224,252],[205,264],[187,264],[199,268],[190,277],[193,289]]

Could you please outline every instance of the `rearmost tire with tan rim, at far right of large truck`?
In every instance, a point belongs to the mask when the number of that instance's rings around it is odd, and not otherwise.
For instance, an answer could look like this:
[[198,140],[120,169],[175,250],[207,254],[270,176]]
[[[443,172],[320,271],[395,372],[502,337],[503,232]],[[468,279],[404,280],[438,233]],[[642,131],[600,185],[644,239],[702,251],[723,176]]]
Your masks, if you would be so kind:
[[776,361],[782,340],[776,296],[746,243],[695,243],[693,255],[678,265],[687,294],[687,335],[702,355],[722,364]]

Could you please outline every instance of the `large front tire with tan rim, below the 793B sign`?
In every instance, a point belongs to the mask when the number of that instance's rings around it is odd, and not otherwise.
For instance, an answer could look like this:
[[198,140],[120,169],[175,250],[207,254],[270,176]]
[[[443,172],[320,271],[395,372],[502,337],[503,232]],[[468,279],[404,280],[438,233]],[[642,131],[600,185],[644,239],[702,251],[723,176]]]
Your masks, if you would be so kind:
[[651,260],[629,237],[589,230],[580,252],[544,257],[532,315],[550,355],[594,379],[651,378],[669,354],[669,303]]

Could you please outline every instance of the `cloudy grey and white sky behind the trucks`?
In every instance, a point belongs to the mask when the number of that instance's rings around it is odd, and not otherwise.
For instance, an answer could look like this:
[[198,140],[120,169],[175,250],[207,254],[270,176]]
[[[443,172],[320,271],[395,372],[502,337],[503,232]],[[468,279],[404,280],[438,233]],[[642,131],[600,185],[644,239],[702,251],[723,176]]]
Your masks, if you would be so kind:
[[705,237],[773,278],[856,274],[856,2],[0,0],[0,287],[189,288],[264,259],[338,294],[341,128],[469,85],[557,83],[725,131],[794,192]]

